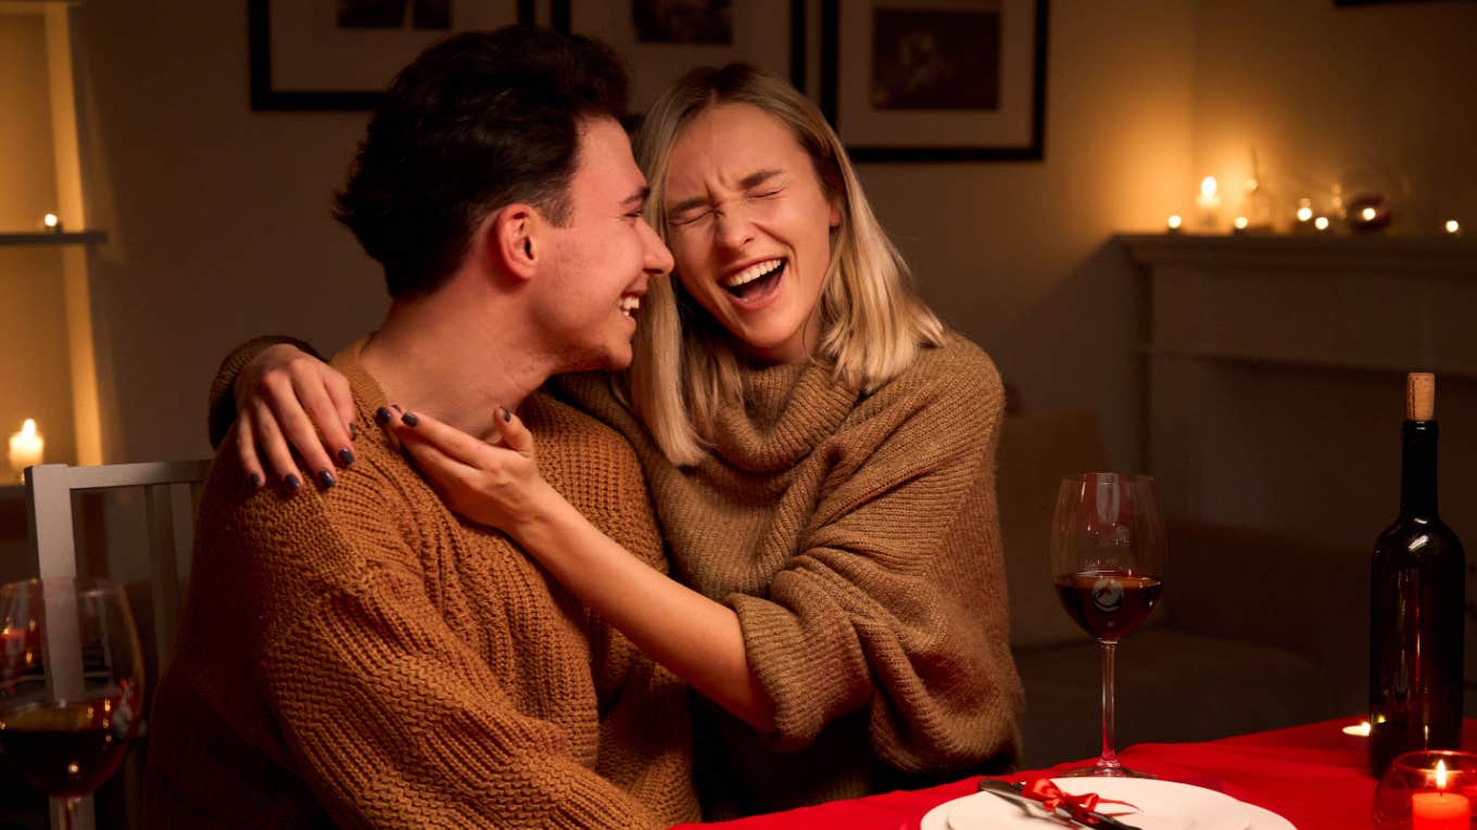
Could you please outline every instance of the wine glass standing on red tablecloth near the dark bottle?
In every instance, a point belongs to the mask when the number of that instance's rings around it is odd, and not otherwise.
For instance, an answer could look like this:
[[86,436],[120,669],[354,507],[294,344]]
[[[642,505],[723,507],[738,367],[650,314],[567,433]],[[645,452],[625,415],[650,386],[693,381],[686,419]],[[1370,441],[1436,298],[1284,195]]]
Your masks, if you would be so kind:
[[1164,520],[1154,479],[1118,473],[1066,476],[1052,518],[1052,580],[1077,625],[1103,647],[1103,749],[1097,764],[1063,775],[1152,777],[1118,764],[1114,744],[1114,650],[1164,591]]

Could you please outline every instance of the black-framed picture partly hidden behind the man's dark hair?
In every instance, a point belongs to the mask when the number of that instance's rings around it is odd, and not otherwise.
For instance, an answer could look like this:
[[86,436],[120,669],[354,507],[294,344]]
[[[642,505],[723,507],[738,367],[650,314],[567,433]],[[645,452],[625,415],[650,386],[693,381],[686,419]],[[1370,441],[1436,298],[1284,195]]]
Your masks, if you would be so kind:
[[251,109],[374,109],[422,49],[532,24],[533,0],[248,0]]

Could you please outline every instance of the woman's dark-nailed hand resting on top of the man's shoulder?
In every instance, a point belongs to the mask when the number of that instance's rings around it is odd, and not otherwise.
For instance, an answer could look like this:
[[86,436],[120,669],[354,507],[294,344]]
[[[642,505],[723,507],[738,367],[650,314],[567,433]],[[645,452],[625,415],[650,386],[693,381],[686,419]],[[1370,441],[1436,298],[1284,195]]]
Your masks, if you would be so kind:
[[269,346],[247,363],[232,391],[236,422],[226,445],[235,446],[256,486],[266,483],[263,462],[289,492],[303,484],[298,459],[323,487],[334,483],[335,459],[353,464],[353,394],[349,380],[328,363],[285,343]]

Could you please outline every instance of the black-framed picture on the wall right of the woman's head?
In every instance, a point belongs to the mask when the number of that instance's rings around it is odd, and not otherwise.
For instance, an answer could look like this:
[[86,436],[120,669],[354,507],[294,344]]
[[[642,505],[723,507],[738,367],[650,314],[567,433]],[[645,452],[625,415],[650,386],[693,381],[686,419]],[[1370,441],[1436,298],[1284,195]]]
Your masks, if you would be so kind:
[[1047,0],[823,0],[821,109],[855,161],[1040,161]]

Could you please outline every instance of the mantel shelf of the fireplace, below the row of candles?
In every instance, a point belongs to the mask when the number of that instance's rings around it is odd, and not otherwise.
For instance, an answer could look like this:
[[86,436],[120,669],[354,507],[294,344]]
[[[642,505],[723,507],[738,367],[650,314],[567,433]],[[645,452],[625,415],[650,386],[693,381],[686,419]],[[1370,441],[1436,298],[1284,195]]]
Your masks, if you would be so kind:
[[1477,239],[1462,236],[1232,236],[1121,233],[1136,261],[1193,266],[1326,272],[1396,267],[1402,272],[1477,275]]

